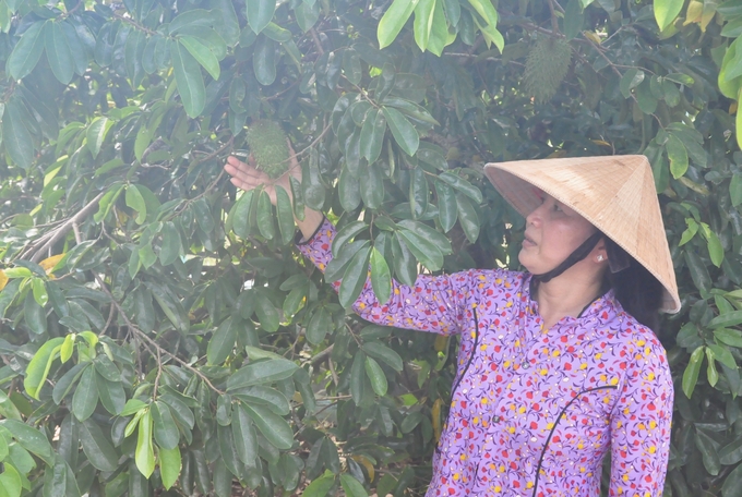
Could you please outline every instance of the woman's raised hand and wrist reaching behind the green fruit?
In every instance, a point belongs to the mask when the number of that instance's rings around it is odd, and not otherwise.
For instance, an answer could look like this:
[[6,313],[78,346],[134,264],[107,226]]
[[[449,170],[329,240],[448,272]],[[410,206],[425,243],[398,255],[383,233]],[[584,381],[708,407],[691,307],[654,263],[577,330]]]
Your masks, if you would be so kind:
[[[297,156],[294,153],[291,145],[289,145],[288,149],[290,154],[288,171],[275,180],[268,178],[268,175],[263,171],[258,170],[252,156],[248,158],[247,162],[242,162],[235,156],[229,156],[229,158],[227,158],[227,163],[224,166],[224,170],[227,171],[227,174],[231,177],[231,183],[238,189],[248,191],[263,186],[265,193],[267,193],[268,197],[271,198],[271,203],[276,205],[275,186],[279,185],[286,191],[286,193],[288,193],[288,197],[291,199],[291,204],[294,204],[289,178],[294,177],[299,180],[299,182],[301,182],[301,166],[299,166],[299,161],[297,160]],[[304,208],[303,220],[299,220],[296,217],[294,218],[297,226],[301,230],[301,233],[304,235],[304,240],[308,240],[312,234],[314,234],[323,219],[324,216],[322,213],[307,207]]]

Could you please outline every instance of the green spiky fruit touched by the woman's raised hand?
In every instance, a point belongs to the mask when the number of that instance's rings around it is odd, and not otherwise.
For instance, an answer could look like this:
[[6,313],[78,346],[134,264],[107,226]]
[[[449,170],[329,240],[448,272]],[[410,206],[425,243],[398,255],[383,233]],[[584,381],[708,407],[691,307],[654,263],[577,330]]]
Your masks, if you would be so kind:
[[280,178],[288,169],[286,133],[275,121],[260,120],[248,128],[248,146],[258,169],[272,179]]

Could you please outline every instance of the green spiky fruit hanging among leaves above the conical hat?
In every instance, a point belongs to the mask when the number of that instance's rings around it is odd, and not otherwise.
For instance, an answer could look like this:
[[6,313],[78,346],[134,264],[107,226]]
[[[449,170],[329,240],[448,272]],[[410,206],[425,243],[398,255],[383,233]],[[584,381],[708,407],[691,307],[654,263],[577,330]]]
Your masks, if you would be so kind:
[[566,76],[572,47],[564,38],[541,37],[528,51],[526,90],[537,102],[551,99]]

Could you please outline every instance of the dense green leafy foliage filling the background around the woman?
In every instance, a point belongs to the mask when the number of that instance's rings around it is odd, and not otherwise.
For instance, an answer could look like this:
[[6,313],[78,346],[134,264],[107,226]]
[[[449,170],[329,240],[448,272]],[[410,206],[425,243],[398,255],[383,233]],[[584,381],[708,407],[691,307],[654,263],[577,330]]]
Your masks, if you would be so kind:
[[[624,153],[683,301],[666,495],[742,495],[740,34],[740,0],[0,1],[0,496],[421,495],[456,340],[355,318],[367,268],[514,267],[482,165]],[[222,172],[265,118],[339,295]]]

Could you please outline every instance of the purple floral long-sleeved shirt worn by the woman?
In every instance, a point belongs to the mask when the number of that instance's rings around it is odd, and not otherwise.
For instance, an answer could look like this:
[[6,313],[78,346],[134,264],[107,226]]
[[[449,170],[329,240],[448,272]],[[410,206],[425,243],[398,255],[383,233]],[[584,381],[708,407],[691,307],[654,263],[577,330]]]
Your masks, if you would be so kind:
[[[300,245],[321,270],[334,235],[325,220]],[[419,276],[394,282],[385,304],[369,282],[355,304],[380,325],[462,336],[427,495],[595,497],[608,450],[610,496],[662,495],[673,400],[665,349],[612,291],[546,329],[529,281],[506,270]]]

